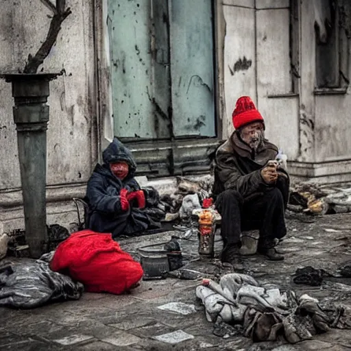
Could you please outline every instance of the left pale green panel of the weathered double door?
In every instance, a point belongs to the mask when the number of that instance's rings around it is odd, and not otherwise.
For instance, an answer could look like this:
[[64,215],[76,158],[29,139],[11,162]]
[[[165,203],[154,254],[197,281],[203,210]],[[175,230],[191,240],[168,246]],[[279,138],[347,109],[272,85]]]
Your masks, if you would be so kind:
[[109,0],[114,135],[155,138],[149,1]]

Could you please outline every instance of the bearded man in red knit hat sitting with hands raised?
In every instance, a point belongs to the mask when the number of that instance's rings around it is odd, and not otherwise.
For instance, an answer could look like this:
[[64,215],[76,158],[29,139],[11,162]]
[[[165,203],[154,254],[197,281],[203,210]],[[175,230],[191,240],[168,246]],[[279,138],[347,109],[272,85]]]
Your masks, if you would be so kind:
[[221,261],[242,269],[242,230],[260,230],[258,252],[284,259],[274,246],[287,232],[289,176],[269,162],[276,160],[278,148],[265,139],[263,117],[250,97],[238,99],[232,118],[235,131],[216,152],[213,194],[222,217]]

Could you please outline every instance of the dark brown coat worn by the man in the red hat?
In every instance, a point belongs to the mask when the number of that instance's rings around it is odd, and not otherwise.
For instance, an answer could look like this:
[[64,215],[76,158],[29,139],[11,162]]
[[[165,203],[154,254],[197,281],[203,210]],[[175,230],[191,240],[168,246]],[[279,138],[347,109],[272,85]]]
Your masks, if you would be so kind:
[[[238,191],[244,199],[252,198],[269,190],[261,176],[261,169],[269,160],[275,160],[278,147],[265,141],[256,152],[244,143],[239,134],[232,136],[221,145],[215,156],[215,183],[213,195],[216,197],[227,189]],[[289,196],[289,175],[280,170],[277,186],[281,188],[282,195],[287,203]]]

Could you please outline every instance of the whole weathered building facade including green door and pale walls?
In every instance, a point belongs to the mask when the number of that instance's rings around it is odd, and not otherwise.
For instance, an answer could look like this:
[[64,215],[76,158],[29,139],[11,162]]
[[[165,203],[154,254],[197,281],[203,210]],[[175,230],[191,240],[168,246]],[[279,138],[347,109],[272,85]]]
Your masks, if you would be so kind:
[[[339,1],[339,3],[341,3]],[[40,0],[0,0],[0,72],[19,71],[45,39]],[[350,40],[329,0],[67,0],[43,71],[51,83],[48,221],[73,218],[72,197],[112,136],[150,178],[208,171],[250,95],[292,175],[351,179]],[[0,232],[23,226],[10,84],[0,82]]]

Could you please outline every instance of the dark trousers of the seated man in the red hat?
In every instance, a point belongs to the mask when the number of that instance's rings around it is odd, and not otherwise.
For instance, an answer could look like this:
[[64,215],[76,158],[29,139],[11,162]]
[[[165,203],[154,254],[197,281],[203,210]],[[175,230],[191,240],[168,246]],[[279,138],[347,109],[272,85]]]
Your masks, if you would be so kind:
[[276,187],[246,201],[237,191],[223,191],[216,201],[216,208],[222,217],[223,244],[239,247],[242,231],[260,230],[258,248],[274,247],[274,239],[287,234],[285,206],[282,192]]

